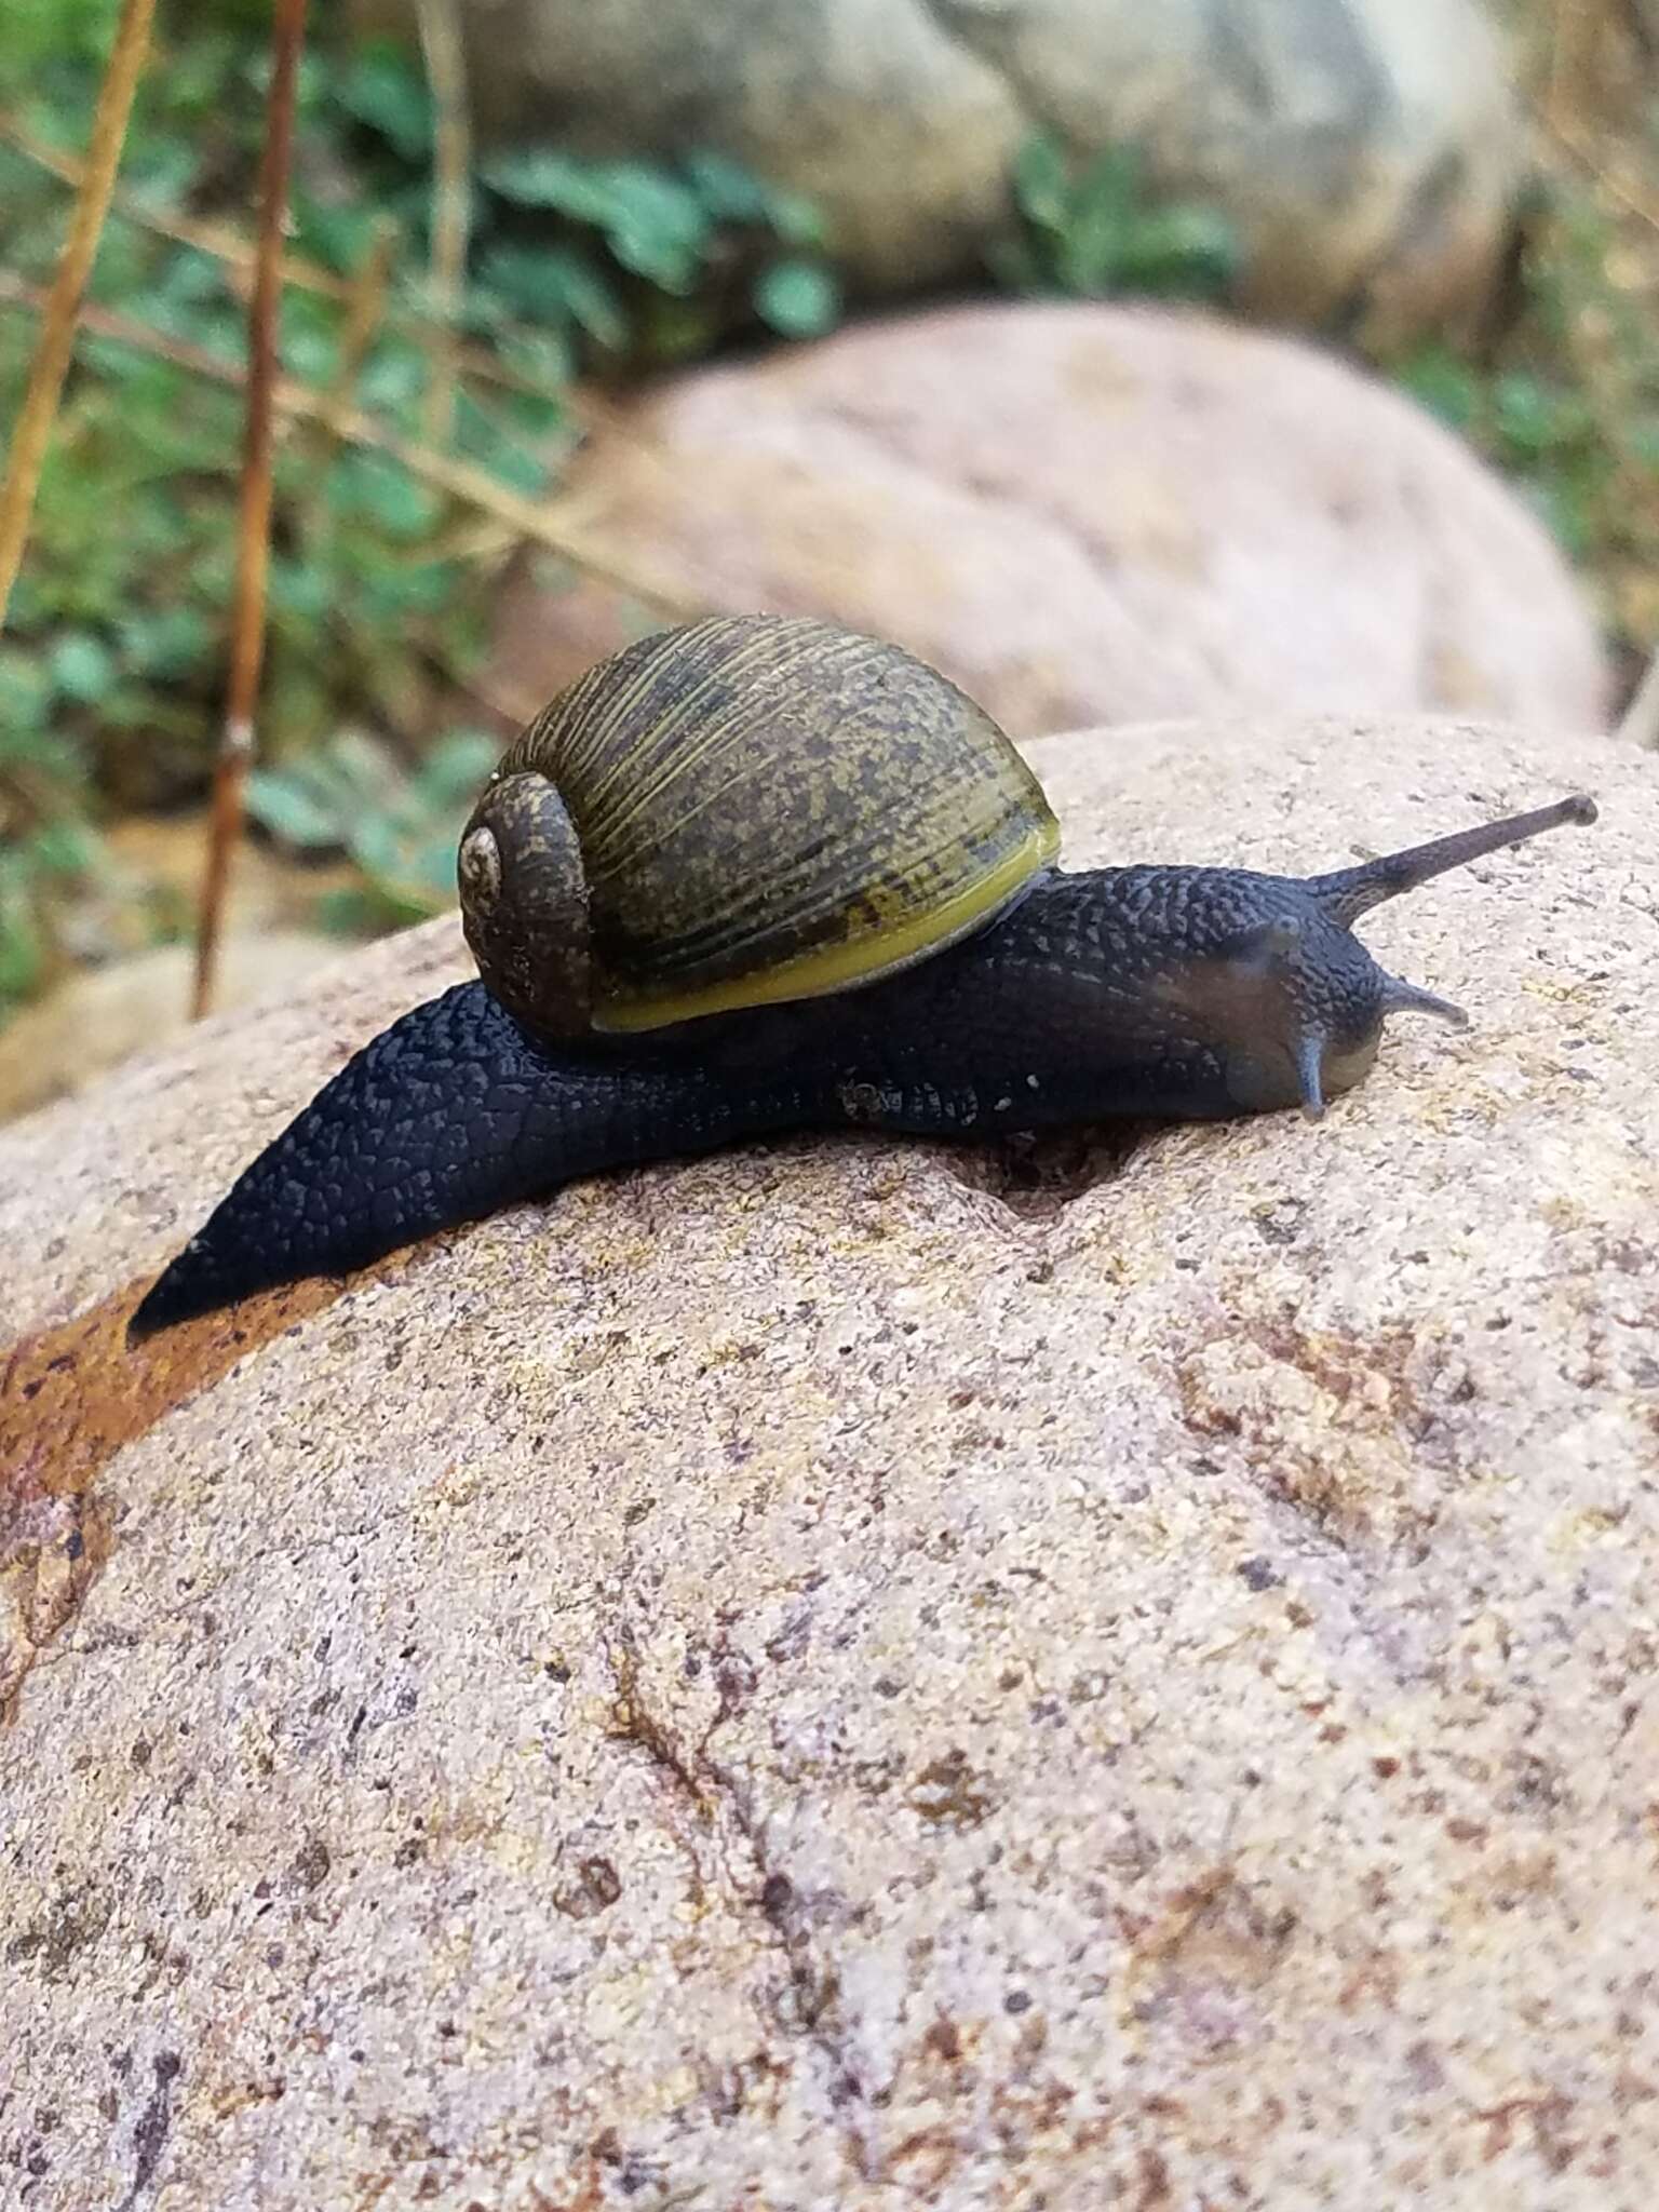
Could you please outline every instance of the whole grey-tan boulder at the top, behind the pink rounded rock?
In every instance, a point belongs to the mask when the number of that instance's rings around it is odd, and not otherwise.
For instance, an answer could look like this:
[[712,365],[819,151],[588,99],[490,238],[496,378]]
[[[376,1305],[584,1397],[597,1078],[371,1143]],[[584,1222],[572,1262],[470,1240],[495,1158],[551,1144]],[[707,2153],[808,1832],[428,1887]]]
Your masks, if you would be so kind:
[[1478,0],[465,0],[462,29],[489,135],[739,155],[883,292],[978,274],[1046,128],[1225,208],[1245,305],[1398,338],[1480,316],[1522,173]]

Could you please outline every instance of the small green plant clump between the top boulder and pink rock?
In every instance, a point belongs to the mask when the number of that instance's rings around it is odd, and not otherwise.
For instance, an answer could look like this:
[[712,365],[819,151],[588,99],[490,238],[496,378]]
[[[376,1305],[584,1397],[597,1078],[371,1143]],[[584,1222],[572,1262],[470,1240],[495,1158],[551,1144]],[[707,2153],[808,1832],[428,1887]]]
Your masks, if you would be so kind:
[[1018,292],[1082,299],[1225,299],[1239,270],[1232,223],[1214,208],[1148,192],[1141,155],[1113,146],[1088,161],[1046,131],[1013,164],[1018,232],[993,270]]

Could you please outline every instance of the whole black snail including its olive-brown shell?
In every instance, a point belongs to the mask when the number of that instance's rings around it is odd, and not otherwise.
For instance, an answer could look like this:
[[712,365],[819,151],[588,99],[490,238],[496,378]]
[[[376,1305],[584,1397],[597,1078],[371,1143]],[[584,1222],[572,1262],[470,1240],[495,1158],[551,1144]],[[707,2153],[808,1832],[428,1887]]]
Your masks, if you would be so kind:
[[717,617],[577,679],[460,841],[480,982],[374,1037],[241,1175],[133,1334],[560,1183],[785,1130],[989,1137],[1358,1084],[1460,1009],[1352,925],[1590,799],[1323,876],[1055,867],[953,684],[832,624]]

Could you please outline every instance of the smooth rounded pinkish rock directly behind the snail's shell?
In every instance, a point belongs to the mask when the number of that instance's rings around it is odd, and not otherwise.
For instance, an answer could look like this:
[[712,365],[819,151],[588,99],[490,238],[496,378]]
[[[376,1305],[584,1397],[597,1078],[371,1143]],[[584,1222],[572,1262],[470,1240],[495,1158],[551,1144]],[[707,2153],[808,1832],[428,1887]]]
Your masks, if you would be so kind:
[[[1225,708],[1588,728],[1590,608],[1533,511],[1400,394],[1199,314],[962,307],[699,369],[573,484],[688,604],[836,615],[1011,730]],[[637,613],[509,586],[526,708]]]

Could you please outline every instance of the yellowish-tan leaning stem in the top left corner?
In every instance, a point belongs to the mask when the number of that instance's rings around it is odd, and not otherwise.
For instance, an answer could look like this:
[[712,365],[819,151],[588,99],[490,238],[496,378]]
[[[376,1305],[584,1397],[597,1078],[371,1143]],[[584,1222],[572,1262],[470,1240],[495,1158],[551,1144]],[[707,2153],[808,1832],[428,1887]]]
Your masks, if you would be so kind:
[[86,173],[75,195],[69,237],[58,257],[58,274],[46,296],[35,358],[29,365],[29,389],[11,431],[7,478],[0,484],[0,624],[7,619],[11,586],[18,582],[18,568],[22,566],[40,469],[51,445],[58,396],[64,389],[69,361],[75,352],[82,292],[86,290],[86,276],[93,268],[93,254],[97,252],[104,215],[115,188],[115,170],[122,159],[122,142],[126,139],[126,117],[133,113],[133,93],[144,69],[153,15],[155,0],[122,0],[115,44],[111,46],[108,69],[97,93],[97,113],[93,115],[93,135],[86,148]]

